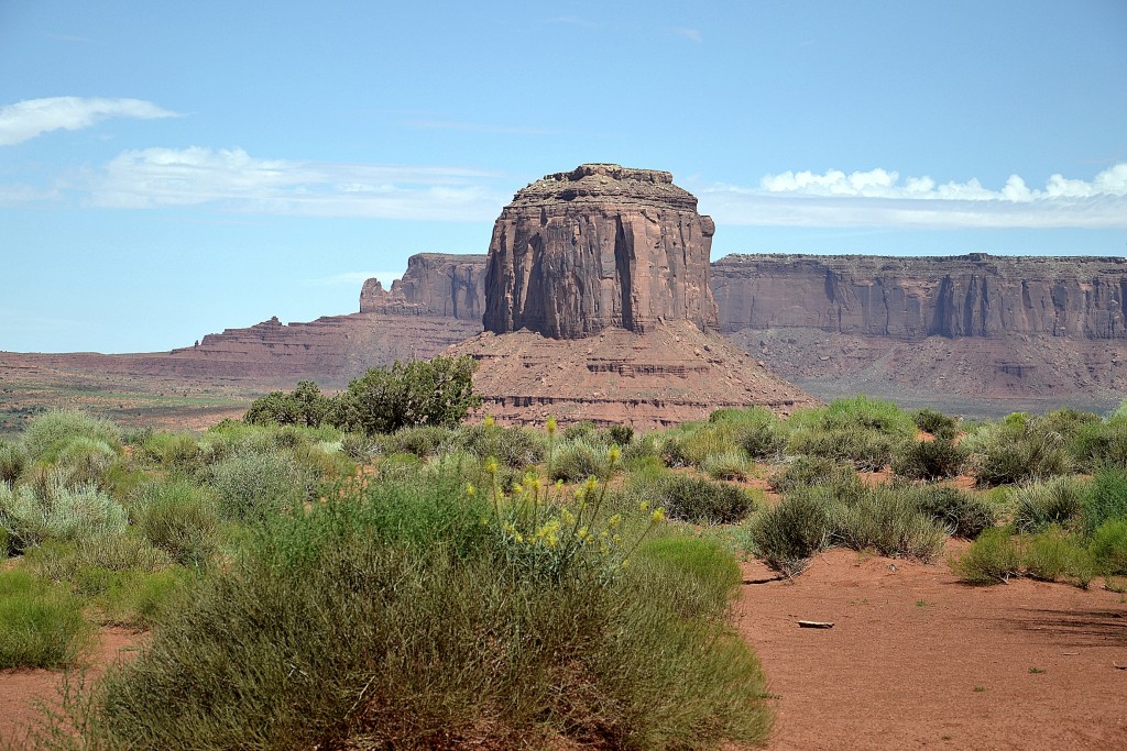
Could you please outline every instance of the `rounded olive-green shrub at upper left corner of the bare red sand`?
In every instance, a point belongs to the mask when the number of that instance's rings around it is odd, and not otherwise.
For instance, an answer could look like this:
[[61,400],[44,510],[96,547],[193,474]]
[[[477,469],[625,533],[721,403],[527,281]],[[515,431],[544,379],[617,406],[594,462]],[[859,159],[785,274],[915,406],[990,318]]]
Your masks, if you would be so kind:
[[795,576],[825,548],[829,517],[823,501],[797,492],[753,517],[748,531],[757,557],[774,571]]

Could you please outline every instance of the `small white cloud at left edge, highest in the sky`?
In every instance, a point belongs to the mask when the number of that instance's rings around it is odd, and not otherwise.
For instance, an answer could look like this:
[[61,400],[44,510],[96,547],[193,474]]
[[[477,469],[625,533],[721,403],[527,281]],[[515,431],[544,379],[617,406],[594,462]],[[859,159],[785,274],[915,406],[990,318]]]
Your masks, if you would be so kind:
[[23,143],[51,131],[79,131],[110,117],[151,119],[178,116],[143,99],[25,99],[0,107],[0,146]]

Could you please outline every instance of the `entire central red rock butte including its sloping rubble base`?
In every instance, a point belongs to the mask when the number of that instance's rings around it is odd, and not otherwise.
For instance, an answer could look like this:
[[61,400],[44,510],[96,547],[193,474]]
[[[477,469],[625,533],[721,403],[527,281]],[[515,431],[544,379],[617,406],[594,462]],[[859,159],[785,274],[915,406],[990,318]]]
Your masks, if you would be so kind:
[[669,172],[583,164],[520,190],[494,225],[478,360],[505,423],[655,428],[713,410],[818,402],[718,333],[716,226]]

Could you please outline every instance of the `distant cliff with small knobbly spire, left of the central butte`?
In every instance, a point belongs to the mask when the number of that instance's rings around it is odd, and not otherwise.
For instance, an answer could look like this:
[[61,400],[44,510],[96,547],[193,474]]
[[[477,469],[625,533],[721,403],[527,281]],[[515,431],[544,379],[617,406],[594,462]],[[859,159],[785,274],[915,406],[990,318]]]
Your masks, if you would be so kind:
[[486,257],[417,253],[407,259],[402,278],[384,290],[369,279],[360,294],[361,313],[437,315],[481,322],[485,311]]

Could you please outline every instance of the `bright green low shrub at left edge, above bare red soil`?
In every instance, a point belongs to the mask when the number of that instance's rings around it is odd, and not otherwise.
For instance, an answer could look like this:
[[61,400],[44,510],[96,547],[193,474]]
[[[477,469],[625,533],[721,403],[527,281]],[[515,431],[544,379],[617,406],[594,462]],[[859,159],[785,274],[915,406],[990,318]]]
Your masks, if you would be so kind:
[[26,571],[0,571],[0,669],[73,664],[90,643],[81,604]]

